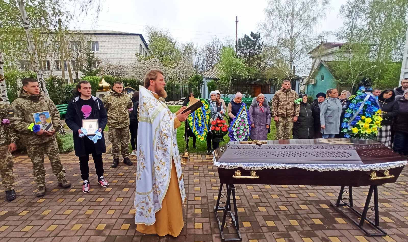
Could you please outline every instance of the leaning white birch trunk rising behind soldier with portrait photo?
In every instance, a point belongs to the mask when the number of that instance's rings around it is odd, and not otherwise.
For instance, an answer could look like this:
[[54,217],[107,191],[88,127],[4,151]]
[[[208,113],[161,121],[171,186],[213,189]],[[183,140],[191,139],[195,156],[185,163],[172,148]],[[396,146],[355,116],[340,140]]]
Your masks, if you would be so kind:
[[[27,16],[27,12],[24,8],[24,1],[18,1],[18,8],[20,9],[22,24],[27,35],[27,42],[28,42],[28,49],[30,54],[33,58],[33,65],[35,69],[35,73],[37,73],[37,80],[38,84],[40,85],[40,89],[45,96],[49,96],[47,87],[45,86],[44,78],[42,77],[42,72],[40,69],[40,60],[38,59],[37,49],[35,48],[33,33],[31,32],[31,24]],[[64,65],[64,63],[62,63]]]

